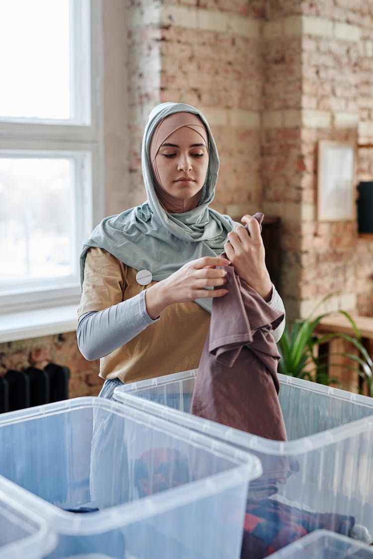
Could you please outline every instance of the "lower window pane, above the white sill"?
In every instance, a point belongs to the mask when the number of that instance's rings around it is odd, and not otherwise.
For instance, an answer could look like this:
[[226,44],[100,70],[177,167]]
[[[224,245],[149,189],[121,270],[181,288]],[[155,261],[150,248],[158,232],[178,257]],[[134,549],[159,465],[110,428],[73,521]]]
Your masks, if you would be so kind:
[[74,160],[0,158],[0,288],[70,276]]

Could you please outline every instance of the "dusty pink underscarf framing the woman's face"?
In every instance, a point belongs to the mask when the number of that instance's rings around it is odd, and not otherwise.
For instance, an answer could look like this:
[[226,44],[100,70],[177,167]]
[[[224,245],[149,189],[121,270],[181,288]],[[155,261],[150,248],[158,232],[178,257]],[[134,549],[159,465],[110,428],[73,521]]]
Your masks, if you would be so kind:
[[185,128],[191,128],[195,130],[200,136],[201,140],[207,148],[207,153],[209,151],[209,139],[207,136],[207,130],[202,124],[201,119],[192,115],[190,112],[176,112],[173,115],[169,115],[166,119],[159,122],[157,128],[153,132],[152,139],[150,140],[150,164],[152,166],[152,171],[154,174],[154,187],[155,192],[157,192],[158,200],[160,205],[169,213],[182,214],[183,212],[195,209],[201,198],[201,191],[196,192],[190,198],[185,198],[180,200],[169,194],[164,190],[162,182],[160,181],[157,160],[155,159],[160,146],[167,140],[173,132],[180,130],[182,132]]

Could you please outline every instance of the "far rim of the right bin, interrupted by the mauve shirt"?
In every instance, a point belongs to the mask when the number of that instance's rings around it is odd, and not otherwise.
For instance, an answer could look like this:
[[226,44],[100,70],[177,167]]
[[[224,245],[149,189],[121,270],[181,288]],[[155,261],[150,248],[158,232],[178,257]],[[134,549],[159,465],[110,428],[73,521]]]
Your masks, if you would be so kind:
[[[189,371],[182,371],[180,373],[172,373],[171,375],[164,375],[162,377],[148,378],[143,381],[135,381],[123,383],[123,386],[117,387],[116,391],[135,392],[140,389],[148,389],[153,386],[163,386],[170,382],[192,380],[196,378],[198,369],[190,369]],[[302,390],[316,392],[326,396],[333,396],[340,400],[351,401],[354,404],[366,405],[368,408],[373,408],[373,398],[370,396],[363,396],[362,394],[355,394],[347,390],[341,390],[332,386],[320,385],[317,382],[306,381],[303,378],[291,377],[290,375],[282,375],[277,373],[280,385],[291,385]],[[280,386],[281,390],[281,386]]]

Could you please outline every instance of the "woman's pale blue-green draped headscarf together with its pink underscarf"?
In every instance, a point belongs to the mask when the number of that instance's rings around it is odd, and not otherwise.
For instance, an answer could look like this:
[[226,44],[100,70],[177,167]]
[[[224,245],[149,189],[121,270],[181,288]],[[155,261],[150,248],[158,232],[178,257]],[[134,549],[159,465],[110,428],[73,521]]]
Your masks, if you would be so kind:
[[[162,185],[154,178],[157,172],[155,166],[152,172],[152,159],[154,161],[164,140],[182,126],[192,127],[204,138],[209,151],[209,168],[205,184],[197,193],[198,200],[193,200],[192,207],[180,213],[180,207],[172,212],[162,206],[159,200],[159,187]],[[209,207],[215,195],[219,156],[209,124],[202,113],[184,103],[162,103],[155,107],[145,124],[141,166],[147,201],[121,214],[105,217],[84,241],[80,259],[81,285],[86,253],[91,247],[107,250],[138,271],[148,270],[154,281],[166,279],[191,260],[223,252],[234,222],[229,216]],[[160,198],[163,199],[162,196]],[[164,199],[163,203],[168,204]],[[194,203],[197,204],[195,207]],[[196,303],[211,312],[210,297],[196,299]]]

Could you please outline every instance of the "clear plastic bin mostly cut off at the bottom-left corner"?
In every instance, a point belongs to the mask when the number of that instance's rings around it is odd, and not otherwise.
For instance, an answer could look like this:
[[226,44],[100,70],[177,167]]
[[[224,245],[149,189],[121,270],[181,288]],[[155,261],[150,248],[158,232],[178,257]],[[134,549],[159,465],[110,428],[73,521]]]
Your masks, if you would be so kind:
[[43,518],[4,492],[4,485],[0,479],[0,559],[41,559],[56,547],[57,538]]

